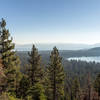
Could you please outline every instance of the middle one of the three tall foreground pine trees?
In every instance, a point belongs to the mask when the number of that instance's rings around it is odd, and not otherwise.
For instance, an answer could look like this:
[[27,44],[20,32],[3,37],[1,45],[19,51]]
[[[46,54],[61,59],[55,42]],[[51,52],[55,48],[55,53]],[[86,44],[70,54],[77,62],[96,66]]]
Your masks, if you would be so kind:
[[28,54],[29,54],[29,64],[30,64],[28,68],[28,77],[29,77],[29,84],[30,84],[29,91],[34,92],[32,91],[32,89],[35,86],[37,86],[37,84],[43,86],[44,70],[43,67],[41,67],[42,66],[41,56],[38,54],[38,50],[35,48],[35,45],[33,45],[32,51]]

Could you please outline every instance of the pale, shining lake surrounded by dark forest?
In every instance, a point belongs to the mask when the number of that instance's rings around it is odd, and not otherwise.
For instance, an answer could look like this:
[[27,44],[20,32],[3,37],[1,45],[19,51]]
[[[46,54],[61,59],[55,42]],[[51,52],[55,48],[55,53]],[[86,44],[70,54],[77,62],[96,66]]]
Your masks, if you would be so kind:
[[68,60],[81,60],[81,61],[87,61],[87,62],[100,62],[100,56],[98,57],[71,57],[68,58]]

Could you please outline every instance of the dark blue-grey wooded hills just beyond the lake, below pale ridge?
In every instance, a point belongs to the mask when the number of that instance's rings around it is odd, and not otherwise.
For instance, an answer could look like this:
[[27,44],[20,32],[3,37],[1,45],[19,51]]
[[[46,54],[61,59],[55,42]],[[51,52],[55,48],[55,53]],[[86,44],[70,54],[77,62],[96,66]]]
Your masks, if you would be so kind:
[[[28,51],[17,51],[17,54],[22,58],[24,55],[28,57]],[[48,59],[50,55],[50,50],[48,51],[39,51],[43,59]],[[93,56],[100,56],[100,47],[85,49],[85,50],[59,50],[60,56],[64,59],[70,57],[93,57]]]

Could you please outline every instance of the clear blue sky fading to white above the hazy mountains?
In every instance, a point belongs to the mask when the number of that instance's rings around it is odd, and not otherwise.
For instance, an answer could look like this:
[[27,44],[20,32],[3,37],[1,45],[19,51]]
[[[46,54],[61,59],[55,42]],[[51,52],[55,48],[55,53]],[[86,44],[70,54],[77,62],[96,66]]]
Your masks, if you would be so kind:
[[16,44],[100,43],[100,0],[0,0]]

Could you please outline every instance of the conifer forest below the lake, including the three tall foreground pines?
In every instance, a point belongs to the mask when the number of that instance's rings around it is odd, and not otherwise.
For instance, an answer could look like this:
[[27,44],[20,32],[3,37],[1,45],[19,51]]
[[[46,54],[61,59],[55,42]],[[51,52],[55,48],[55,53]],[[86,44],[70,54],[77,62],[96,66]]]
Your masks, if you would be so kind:
[[[2,19],[0,100],[100,100],[100,64],[64,61],[56,47],[51,51],[48,63],[43,63],[35,45],[28,52],[27,64],[21,64],[14,48]],[[88,70],[92,66],[98,72],[93,74],[94,69]]]

